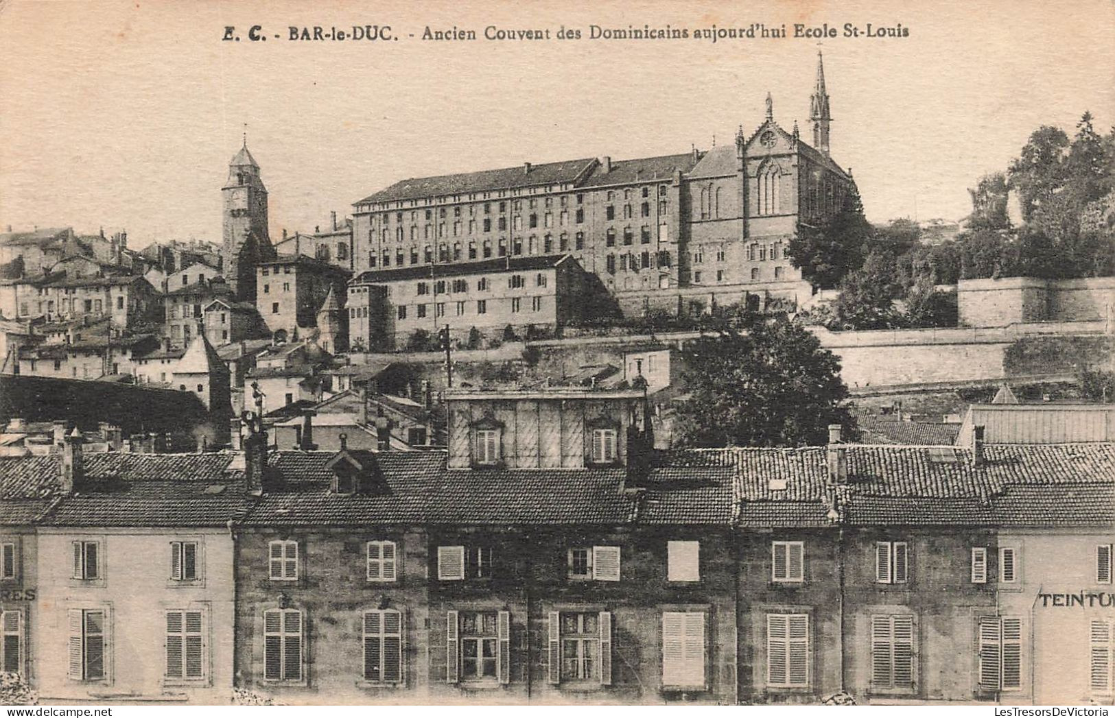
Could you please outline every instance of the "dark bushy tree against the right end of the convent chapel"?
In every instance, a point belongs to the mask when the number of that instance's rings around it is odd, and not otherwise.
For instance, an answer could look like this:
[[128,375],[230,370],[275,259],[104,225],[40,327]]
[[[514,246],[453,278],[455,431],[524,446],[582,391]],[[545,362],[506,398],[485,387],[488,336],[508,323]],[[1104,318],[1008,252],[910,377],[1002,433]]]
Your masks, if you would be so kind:
[[805,279],[830,289],[860,266],[871,236],[872,229],[863,216],[860,192],[852,183],[840,212],[818,227],[802,225],[786,250]]

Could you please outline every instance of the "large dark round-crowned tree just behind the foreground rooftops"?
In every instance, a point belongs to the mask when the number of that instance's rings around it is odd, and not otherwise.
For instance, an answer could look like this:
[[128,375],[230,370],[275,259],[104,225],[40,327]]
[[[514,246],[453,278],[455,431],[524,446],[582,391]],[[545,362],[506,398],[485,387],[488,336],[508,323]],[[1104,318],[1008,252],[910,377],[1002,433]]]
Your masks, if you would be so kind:
[[681,352],[690,396],[678,408],[694,447],[823,444],[827,426],[851,426],[840,360],[785,319],[701,337]]

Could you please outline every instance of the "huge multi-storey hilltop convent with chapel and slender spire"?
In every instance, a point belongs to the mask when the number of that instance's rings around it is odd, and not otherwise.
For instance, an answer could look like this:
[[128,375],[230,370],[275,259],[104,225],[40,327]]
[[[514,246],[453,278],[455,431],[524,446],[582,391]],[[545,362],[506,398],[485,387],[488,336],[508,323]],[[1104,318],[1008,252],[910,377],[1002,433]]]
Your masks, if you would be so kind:
[[767,95],[757,129],[706,152],[397,182],[353,205],[355,273],[377,282],[399,268],[569,253],[629,316],[801,302],[812,287],[788,242],[837,211],[853,182],[830,156],[820,55],[809,115],[812,145],[775,120]]

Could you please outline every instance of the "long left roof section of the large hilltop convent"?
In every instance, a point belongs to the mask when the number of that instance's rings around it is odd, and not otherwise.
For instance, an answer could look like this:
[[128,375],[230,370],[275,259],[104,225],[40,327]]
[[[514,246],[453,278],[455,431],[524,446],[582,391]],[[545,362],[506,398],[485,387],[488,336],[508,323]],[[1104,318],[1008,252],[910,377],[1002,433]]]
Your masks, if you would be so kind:
[[494,192],[513,187],[529,187],[540,184],[575,182],[595,159],[568,159],[542,165],[517,165],[502,169],[483,169],[435,177],[414,177],[396,182],[391,186],[368,195],[356,204],[370,202],[396,202],[437,197],[447,194],[472,192]]

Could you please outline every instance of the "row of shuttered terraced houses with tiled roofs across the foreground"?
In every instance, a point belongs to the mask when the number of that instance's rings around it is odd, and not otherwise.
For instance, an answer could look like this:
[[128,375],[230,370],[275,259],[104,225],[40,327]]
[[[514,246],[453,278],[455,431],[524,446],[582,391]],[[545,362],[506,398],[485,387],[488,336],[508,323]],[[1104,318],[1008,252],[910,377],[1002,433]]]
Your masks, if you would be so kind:
[[240,452],[0,458],[6,666],[74,700],[1112,701],[1111,443],[662,454],[641,391],[447,408],[444,452],[250,417]]

